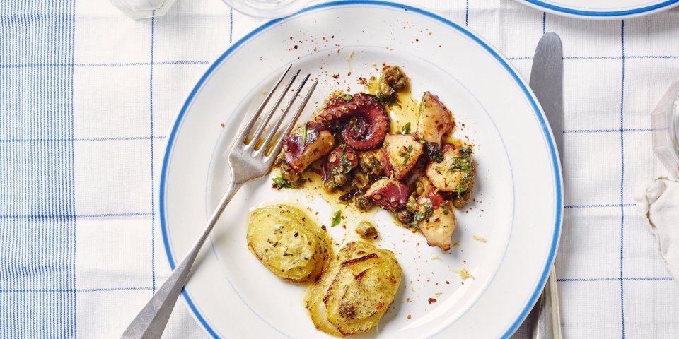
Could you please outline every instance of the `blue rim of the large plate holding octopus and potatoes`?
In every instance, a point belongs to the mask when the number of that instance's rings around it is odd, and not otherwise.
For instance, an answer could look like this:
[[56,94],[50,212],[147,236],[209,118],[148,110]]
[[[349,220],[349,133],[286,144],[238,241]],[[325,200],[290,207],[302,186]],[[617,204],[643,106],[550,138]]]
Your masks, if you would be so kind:
[[[534,1],[534,0],[528,0],[528,1]],[[679,0],[671,0],[671,1],[679,1]],[[556,152],[556,147],[555,147],[555,141],[554,137],[552,136],[552,132],[550,130],[549,124],[547,123],[547,119],[545,118],[544,113],[542,112],[542,109],[540,108],[540,105],[535,101],[535,97],[533,97],[533,93],[528,89],[528,86],[526,85],[526,82],[523,81],[521,76],[518,76],[516,71],[513,69],[513,67],[509,64],[509,61],[507,61],[504,57],[502,57],[499,52],[497,52],[494,47],[492,47],[490,44],[482,40],[478,35],[475,33],[472,33],[470,30],[467,28],[464,28],[456,23],[453,23],[451,20],[448,20],[446,18],[443,18],[442,16],[436,15],[434,13],[431,13],[429,11],[425,11],[423,9],[417,8],[417,7],[412,7],[412,6],[407,6],[407,5],[402,5],[402,4],[396,4],[393,2],[388,2],[388,1],[373,1],[373,0],[347,0],[347,1],[332,1],[332,2],[327,2],[324,4],[318,4],[315,6],[310,6],[307,8],[304,8],[303,10],[299,11],[298,13],[295,13],[291,16],[286,16],[285,18],[279,18],[279,19],[274,19],[270,20],[269,22],[261,25],[258,28],[255,28],[252,32],[249,32],[247,35],[242,37],[240,40],[235,42],[234,44],[231,45],[228,49],[226,49],[226,52],[221,54],[219,58],[217,58],[205,71],[203,76],[199,79],[198,83],[194,86],[194,88],[191,90],[191,93],[189,93],[189,96],[187,97],[186,101],[184,102],[184,105],[182,105],[182,109],[180,110],[177,119],[175,120],[175,124],[172,127],[172,131],[170,132],[170,137],[168,138],[168,146],[165,151],[165,156],[163,158],[163,171],[161,172],[161,189],[160,189],[160,206],[159,206],[159,212],[160,212],[160,221],[161,221],[161,232],[163,234],[163,245],[165,247],[166,254],[168,256],[168,262],[170,263],[170,268],[175,269],[176,262],[175,258],[173,256],[172,250],[170,249],[170,241],[168,237],[168,229],[167,229],[167,221],[166,221],[166,210],[165,210],[165,194],[166,194],[166,184],[167,184],[167,174],[168,174],[168,167],[170,165],[170,157],[172,155],[172,150],[175,142],[175,138],[177,136],[177,133],[179,131],[179,128],[182,124],[182,121],[185,117],[185,114],[188,110],[188,108],[191,106],[193,100],[195,99],[195,96],[199,92],[200,88],[204,85],[205,81],[211,76],[211,74],[217,69],[218,66],[221,65],[221,63],[233,53],[240,45],[244,44],[245,42],[248,42],[248,40],[252,39],[255,37],[258,33],[260,33],[262,30],[265,30],[266,28],[271,27],[272,25],[275,25],[282,20],[286,20],[287,18],[291,18],[294,16],[297,16],[300,13],[306,13],[309,11],[315,11],[321,8],[328,8],[328,7],[339,7],[339,6],[350,6],[350,5],[370,5],[370,6],[385,6],[385,7],[391,7],[391,8],[399,8],[405,11],[410,11],[413,13],[418,13],[422,16],[426,16],[429,18],[433,18],[434,20],[438,20],[441,23],[444,23],[448,25],[449,27],[458,30],[459,32],[462,32],[465,36],[469,37],[471,40],[479,44],[483,49],[486,50],[489,54],[496,59],[499,64],[501,64],[504,69],[509,73],[509,75],[513,78],[514,81],[516,81],[516,84],[521,88],[523,94],[526,96],[526,100],[530,103],[530,106],[533,108],[533,112],[535,115],[538,117],[538,121],[540,121],[540,126],[542,127],[542,133],[545,134],[545,138],[547,140],[547,145],[549,146],[550,150],[550,157],[552,160],[552,169],[554,170],[554,178],[555,178],[555,191],[556,191],[556,201],[555,201],[555,227],[554,227],[554,232],[552,233],[552,244],[550,244],[550,252],[549,256],[547,258],[547,261],[545,262],[545,268],[542,269],[542,274],[540,275],[540,279],[538,280],[538,284],[535,286],[535,290],[533,291],[533,294],[530,295],[530,299],[528,300],[528,303],[526,304],[526,307],[516,316],[516,319],[511,323],[511,325],[506,328],[505,333],[501,335],[501,338],[509,338],[510,335],[512,335],[518,326],[521,326],[521,323],[523,323],[523,320],[526,319],[526,316],[528,316],[528,313],[530,312],[531,309],[533,309],[533,305],[535,302],[538,300],[538,297],[540,296],[540,293],[542,292],[542,288],[545,286],[545,283],[547,282],[547,277],[549,276],[550,273],[550,268],[552,266],[552,263],[554,262],[554,258],[556,256],[556,251],[557,251],[557,246],[559,244],[559,234],[561,233],[561,225],[562,225],[562,213],[563,213],[563,191],[562,191],[562,176],[561,176],[561,165],[559,163],[559,157]],[[195,303],[191,299],[190,295],[188,294],[187,290],[184,289],[182,290],[182,295],[193,312],[194,316],[196,319],[199,321],[199,323],[202,324],[202,326],[205,328],[205,330],[214,338],[220,338],[219,334],[210,326],[208,323],[207,319],[202,316],[200,311],[197,309]]]

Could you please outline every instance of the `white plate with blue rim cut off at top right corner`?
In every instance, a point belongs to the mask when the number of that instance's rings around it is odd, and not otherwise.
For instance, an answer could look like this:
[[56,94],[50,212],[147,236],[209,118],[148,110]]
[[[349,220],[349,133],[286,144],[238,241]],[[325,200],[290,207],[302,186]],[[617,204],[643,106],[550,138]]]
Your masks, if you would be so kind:
[[679,6],[679,0],[516,0],[559,16],[591,20],[620,20],[648,16]]

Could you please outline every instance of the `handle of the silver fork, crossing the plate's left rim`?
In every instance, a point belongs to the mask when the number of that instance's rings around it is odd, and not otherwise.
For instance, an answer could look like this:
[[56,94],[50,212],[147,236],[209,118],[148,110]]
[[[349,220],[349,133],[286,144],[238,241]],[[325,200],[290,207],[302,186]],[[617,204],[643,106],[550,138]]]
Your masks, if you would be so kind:
[[168,324],[168,319],[170,319],[170,314],[172,314],[172,309],[175,307],[175,302],[177,302],[177,298],[186,283],[186,278],[189,276],[191,266],[196,261],[200,248],[203,246],[210,231],[214,228],[217,220],[219,220],[219,216],[224,212],[224,208],[226,208],[228,202],[231,201],[231,198],[239,188],[240,185],[233,184],[233,179],[230,179],[226,192],[222,196],[221,201],[219,201],[219,206],[212,213],[210,220],[208,220],[207,225],[205,225],[189,253],[175,267],[175,270],[173,270],[161,288],[158,289],[158,292],[139,311],[139,314],[137,314],[132,323],[127,326],[127,330],[122,333],[122,339],[161,338],[165,326]]

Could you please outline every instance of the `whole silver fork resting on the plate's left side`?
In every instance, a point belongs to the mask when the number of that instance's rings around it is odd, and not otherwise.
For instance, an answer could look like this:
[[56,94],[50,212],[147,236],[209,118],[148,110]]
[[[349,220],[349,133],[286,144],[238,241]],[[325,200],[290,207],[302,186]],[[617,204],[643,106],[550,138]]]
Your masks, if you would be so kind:
[[[253,117],[251,117],[248,123],[245,124],[242,129],[240,129],[238,136],[236,136],[236,140],[234,140],[231,144],[231,150],[229,150],[228,154],[228,165],[231,167],[232,176],[229,180],[224,196],[222,196],[221,201],[219,201],[219,206],[217,206],[216,210],[214,210],[212,213],[207,225],[205,225],[205,228],[200,233],[198,239],[196,239],[196,242],[189,250],[189,253],[175,268],[173,273],[170,275],[170,278],[168,278],[168,280],[163,283],[163,286],[158,289],[158,292],[156,292],[151,300],[146,303],[146,306],[144,306],[144,308],[139,311],[139,314],[137,314],[137,317],[134,318],[132,323],[129,324],[127,330],[125,330],[121,338],[161,338],[161,335],[165,330],[165,326],[168,323],[168,319],[170,318],[170,314],[172,313],[172,309],[175,306],[175,302],[177,302],[177,298],[182,292],[182,287],[184,287],[184,284],[186,283],[191,266],[193,266],[198,252],[207,239],[207,236],[210,234],[210,231],[212,228],[214,228],[217,220],[219,220],[219,216],[222,212],[224,212],[224,208],[226,208],[228,202],[231,201],[233,195],[236,194],[238,189],[240,189],[243,184],[254,179],[260,179],[271,170],[274,160],[281,151],[282,138],[292,131],[297,119],[302,113],[302,110],[309,101],[311,93],[313,93],[313,90],[315,90],[316,85],[318,84],[318,81],[314,81],[308,93],[297,108],[294,117],[284,129],[282,136],[277,138],[276,142],[272,144],[272,147],[269,147],[269,143],[271,143],[272,139],[276,135],[276,132],[279,131],[279,128],[281,127],[286,115],[290,111],[292,104],[295,102],[304,84],[308,81],[309,75],[306,75],[303,81],[299,84],[294,96],[291,97],[290,101],[284,108],[283,113],[280,114],[277,121],[272,124],[271,130],[265,136],[264,142],[260,145],[260,148],[256,149],[255,145],[257,145],[257,141],[259,141],[262,137],[262,134],[267,128],[267,124],[269,124],[269,121],[274,116],[274,113],[281,105],[285,95],[288,93],[295,79],[299,75],[299,70],[294,74],[294,76],[292,76],[288,84],[285,86],[283,92],[276,100],[274,107],[272,107],[272,109],[270,109],[269,112],[264,117],[262,117],[262,123],[257,126],[256,129],[254,129],[255,122],[257,119],[259,119],[260,115],[267,106],[267,103],[279,85],[282,83],[291,67],[292,65],[288,66],[288,68],[283,72],[282,76],[276,82],[276,85],[274,85],[274,88],[269,90],[269,93],[265,97],[260,107],[257,108],[255,114],[253,114]],[[246,138],[251,132],[253,134],[249,139],[250,141],[248,142]],[[272,148],[271,152],[267,153],[267,148]]]

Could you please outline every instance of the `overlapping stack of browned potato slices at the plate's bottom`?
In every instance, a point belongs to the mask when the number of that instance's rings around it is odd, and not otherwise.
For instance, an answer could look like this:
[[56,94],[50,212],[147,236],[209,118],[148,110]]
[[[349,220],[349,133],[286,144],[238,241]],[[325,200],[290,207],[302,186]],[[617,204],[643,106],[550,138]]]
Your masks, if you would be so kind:
[[401,282],[392,251],[349,242],[304,297],[320,331],[344,336],[368,332],[392,304]]

